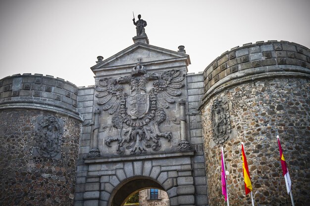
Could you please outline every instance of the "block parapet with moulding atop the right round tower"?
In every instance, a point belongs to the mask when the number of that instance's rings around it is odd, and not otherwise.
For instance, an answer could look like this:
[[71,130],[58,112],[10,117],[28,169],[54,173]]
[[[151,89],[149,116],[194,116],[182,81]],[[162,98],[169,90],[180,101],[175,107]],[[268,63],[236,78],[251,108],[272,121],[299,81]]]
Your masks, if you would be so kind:
[[275,77],[310,78],[310,49],[288,41],[258,41],[224,52],[204,71],[203,105],[223,89]]

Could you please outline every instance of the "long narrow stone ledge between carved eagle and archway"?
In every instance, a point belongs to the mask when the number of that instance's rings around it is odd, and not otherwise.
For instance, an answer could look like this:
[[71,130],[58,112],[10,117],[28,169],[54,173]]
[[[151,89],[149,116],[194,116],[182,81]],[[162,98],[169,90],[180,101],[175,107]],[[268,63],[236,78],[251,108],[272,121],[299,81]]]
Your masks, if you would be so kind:
[[84,158],[85,164],[96,163],[114,163],[114,162],[128,162],[128,161],[141,161],[150,159],[166,159],[166,158],[178,158],[178,157],[192,157],[195,151],[185,152],[165,152],[165,153],[151,153],[144,155],[131,155],[131,156],[110,156],[101,158]]

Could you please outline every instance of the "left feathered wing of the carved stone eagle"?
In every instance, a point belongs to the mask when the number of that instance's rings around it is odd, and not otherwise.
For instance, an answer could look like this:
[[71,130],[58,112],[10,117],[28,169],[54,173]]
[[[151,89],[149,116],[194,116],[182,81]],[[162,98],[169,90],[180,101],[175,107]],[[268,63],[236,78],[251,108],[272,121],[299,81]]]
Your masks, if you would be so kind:
[[124,88],[119,85],[116,79],[103,78],[99,80],[95,87],[96,91],[100,93],[96,94],[99,99],[99,105],[103,105],[103,111],[108,111],[112,115],[120,108],[120,102],[124,100]]

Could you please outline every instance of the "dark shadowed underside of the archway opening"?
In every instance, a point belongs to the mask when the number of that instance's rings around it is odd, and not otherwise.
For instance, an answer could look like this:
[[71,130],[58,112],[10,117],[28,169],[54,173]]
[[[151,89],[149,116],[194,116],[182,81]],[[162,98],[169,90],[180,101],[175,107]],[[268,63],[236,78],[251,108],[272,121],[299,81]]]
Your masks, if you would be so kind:
[[156,188],[164,190],[164,188],[155,180],[146,177],[135,177],[121,183],[114,189],[110,196],[110,206],[122,206],[127,197],[140,190]]

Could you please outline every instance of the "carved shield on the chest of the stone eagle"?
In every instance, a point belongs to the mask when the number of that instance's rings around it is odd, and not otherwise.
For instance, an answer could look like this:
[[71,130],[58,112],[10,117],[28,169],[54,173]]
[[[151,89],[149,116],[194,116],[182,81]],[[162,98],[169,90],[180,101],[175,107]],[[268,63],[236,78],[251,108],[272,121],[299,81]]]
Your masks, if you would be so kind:
[[149,94],[136,93],[127,97],[127,114],[133,119],[142,118],[150,107]]

